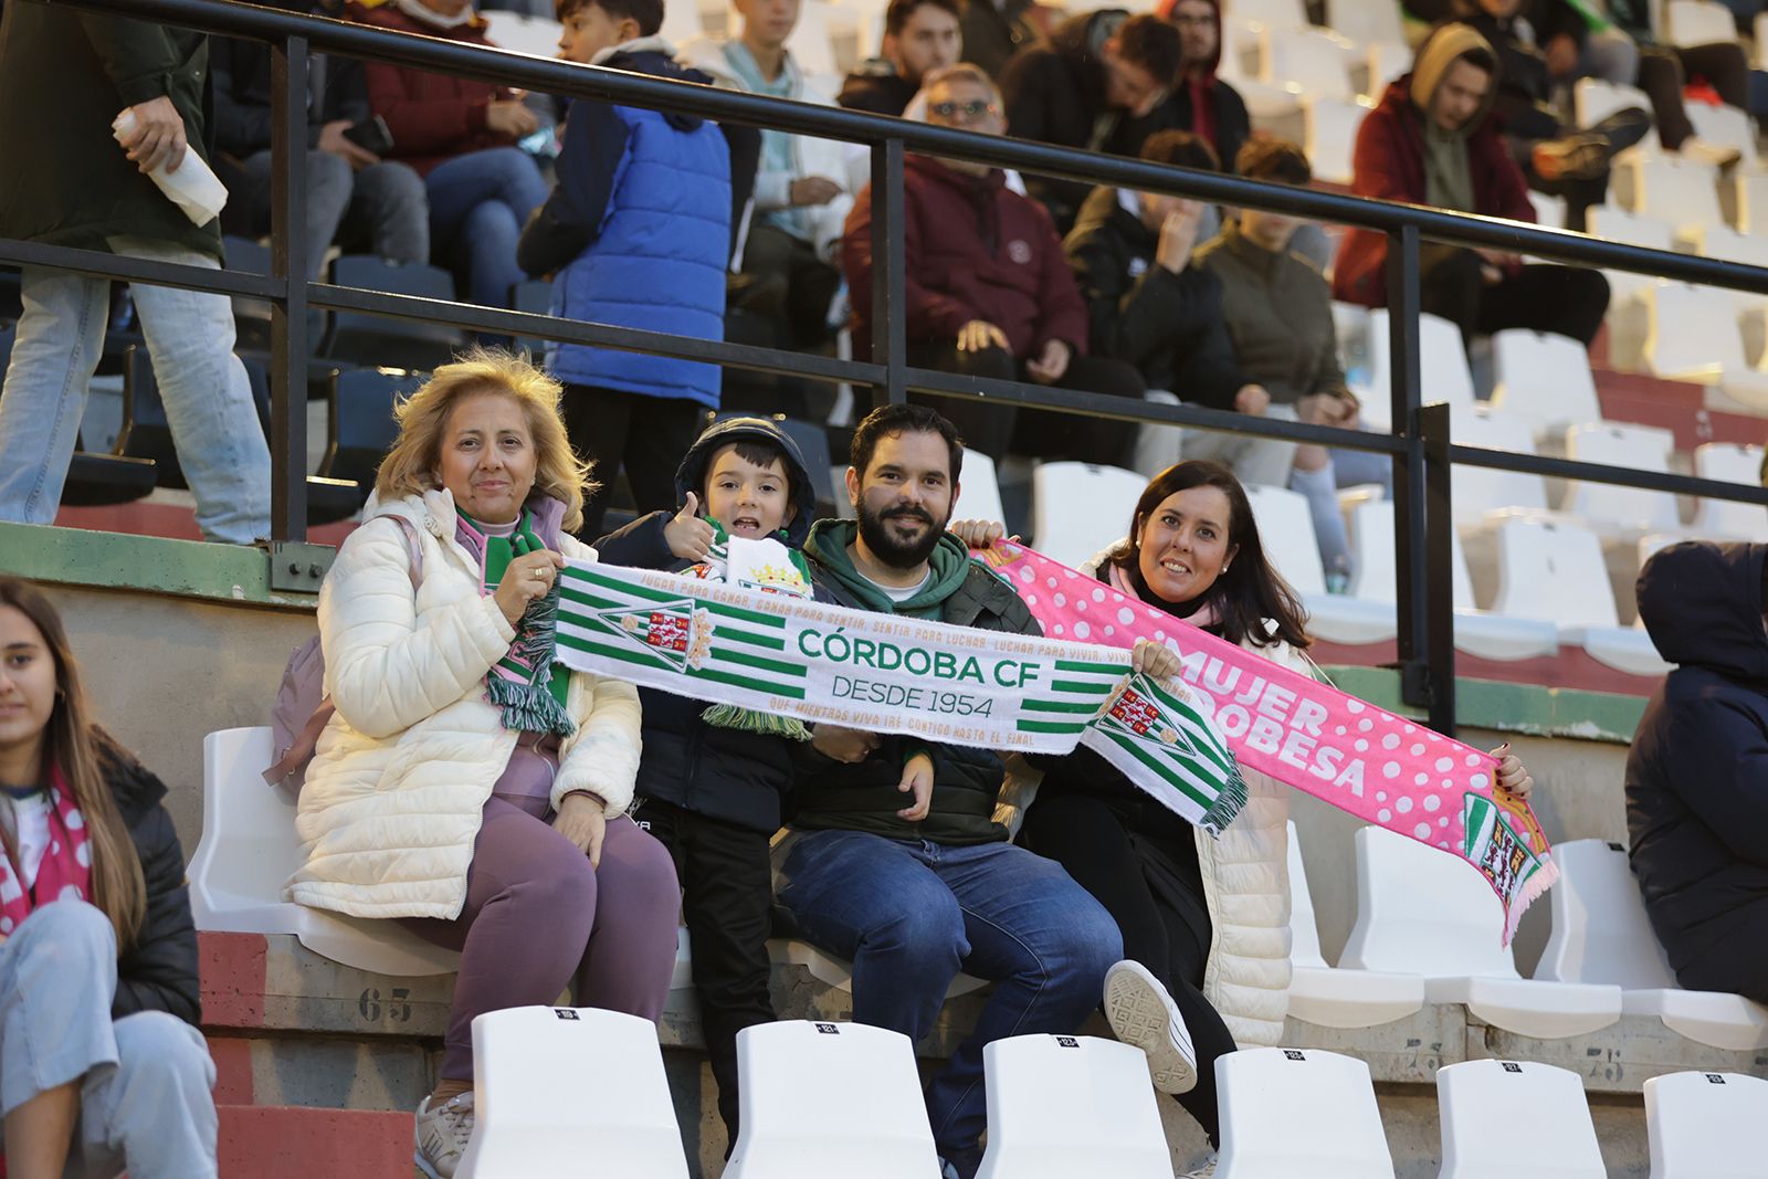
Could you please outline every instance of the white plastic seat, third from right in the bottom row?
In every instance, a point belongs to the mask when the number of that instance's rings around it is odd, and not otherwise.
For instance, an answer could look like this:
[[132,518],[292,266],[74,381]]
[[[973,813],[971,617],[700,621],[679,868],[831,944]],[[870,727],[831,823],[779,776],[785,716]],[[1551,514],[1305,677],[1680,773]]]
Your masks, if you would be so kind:
[[1215,1179],[1391,1179],[1368,1066],[1337,1052],[1243,1048],[1216,1057]]

